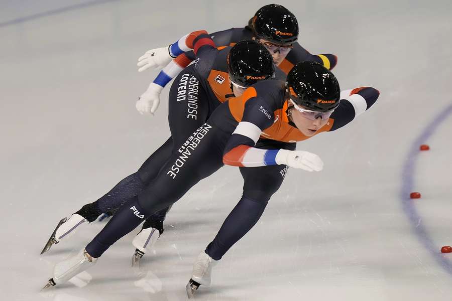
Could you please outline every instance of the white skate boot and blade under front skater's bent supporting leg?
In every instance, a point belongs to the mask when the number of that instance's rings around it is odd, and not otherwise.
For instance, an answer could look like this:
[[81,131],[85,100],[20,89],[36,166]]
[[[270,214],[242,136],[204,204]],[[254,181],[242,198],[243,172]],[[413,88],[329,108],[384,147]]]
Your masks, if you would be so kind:
[[188,298],[192,298],[199,285],[210,285],[212,268],[218,263],[218,260],[213,259],[204,251],[199,253],[193,265],[193,271],[190,281],[188,281],[187,290]]

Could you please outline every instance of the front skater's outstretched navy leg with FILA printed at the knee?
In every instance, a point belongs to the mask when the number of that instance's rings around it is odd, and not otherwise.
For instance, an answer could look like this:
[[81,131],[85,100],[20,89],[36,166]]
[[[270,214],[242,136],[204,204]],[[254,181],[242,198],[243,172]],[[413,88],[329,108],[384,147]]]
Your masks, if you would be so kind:
[[222,152],[229,133],[208,124],[198,128],[174,153],[151,184],[125,204],[86,246],[93,257],[136,228],[144,218],[179,200],[199,180],[222,166]]

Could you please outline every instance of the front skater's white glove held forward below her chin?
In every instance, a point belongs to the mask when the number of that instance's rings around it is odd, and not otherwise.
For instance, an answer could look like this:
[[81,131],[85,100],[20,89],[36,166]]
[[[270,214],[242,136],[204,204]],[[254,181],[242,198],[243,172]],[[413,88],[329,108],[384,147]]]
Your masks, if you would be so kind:
[[276,164],[285,164],[293,168],[301,168],[308,172],[319,172],[323,169],[323,161],[315,154],[304,150],[280,149],[276,154]]

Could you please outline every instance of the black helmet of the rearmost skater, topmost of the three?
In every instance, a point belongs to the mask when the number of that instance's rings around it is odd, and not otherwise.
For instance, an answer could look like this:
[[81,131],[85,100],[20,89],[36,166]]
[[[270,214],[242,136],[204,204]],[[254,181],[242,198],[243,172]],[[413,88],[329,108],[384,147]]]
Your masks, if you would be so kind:
[[298,39],[297,18],[278,4],[260,8],[252,19],[251,27],[258,38],[278,45],[290,45]]

